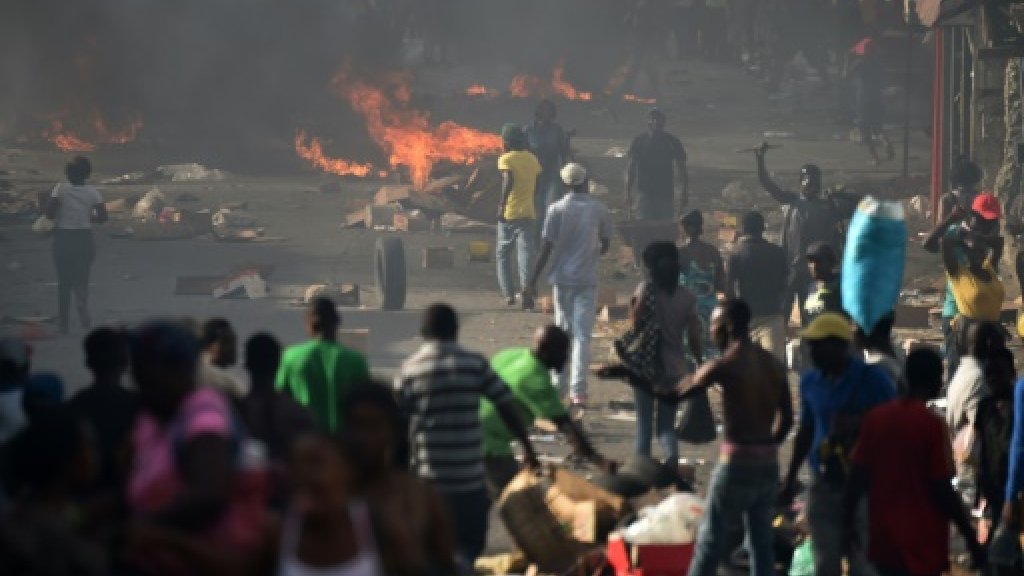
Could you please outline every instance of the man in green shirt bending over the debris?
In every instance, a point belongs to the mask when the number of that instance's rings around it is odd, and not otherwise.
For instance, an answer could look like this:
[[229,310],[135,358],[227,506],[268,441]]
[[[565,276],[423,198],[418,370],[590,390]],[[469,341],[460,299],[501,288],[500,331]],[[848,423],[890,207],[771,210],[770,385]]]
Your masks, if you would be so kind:
[[[537,330],[531,348],[502,351],[490,360],[490,367],[508,384],[525,425],[532,424],[537,418],[551,420],[568,438],[578,454],[608,471],[613,464],[594,450],[583,430],[569,419],[558,390],[551,383],[551,371],[562,370],[568,355],[569,335],[557,326],[548,325]],[[522,466],[512,450],[515,437],[495,405],[485,399],[480,401],[480,423],[487,490],[497,497]]]

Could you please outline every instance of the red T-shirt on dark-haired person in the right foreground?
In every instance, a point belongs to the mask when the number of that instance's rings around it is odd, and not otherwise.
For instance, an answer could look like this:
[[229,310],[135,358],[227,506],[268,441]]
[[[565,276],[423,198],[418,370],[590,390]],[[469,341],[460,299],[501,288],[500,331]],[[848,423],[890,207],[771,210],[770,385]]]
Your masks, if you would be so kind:
[[870,536],[867,557],[880,568],[940,574],[949,566],[949,521],[929,486],[953,476],[945,423],[918,400],[899,399],[867,413],[853,451],[866,468]]

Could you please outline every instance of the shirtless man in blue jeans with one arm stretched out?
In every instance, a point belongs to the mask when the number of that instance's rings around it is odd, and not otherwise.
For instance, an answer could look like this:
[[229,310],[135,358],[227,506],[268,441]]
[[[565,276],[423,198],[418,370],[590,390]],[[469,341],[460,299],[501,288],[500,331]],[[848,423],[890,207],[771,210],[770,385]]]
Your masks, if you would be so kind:
[[751,543],[751,574],[775,573],[776,452],[793,427],[793,402],[785,368],[751,340],[750,325],[751,308],[742,300],[728,300],[715,308],[711,336],[723,351],[721,358],[702,365],[670,393],[682,400],[718,384],[725,411],[725,442],[712,475],[689,576],[716,574],[731,551],[730,528],[741,521]]

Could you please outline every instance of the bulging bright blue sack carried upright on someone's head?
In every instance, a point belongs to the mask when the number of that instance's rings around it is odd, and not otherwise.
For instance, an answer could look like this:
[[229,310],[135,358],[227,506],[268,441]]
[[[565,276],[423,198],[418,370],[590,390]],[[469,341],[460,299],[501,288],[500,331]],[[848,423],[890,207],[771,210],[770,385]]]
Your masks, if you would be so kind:
[[905,260],[903,205],[861,200],[843,250],[842,293],[843,308],[865,333],[896,307]]

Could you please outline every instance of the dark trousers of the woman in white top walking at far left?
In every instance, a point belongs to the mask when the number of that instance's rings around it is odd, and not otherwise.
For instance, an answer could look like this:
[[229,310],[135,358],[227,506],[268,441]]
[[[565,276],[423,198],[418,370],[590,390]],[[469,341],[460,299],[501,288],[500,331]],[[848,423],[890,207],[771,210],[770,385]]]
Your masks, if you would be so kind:
[[75,296],[79,320],[88,329],[89,273],[96,249],[89,230],[55,230],[53,232],[53,263],[57,269],[57,325],[68,331],[71,299]]

